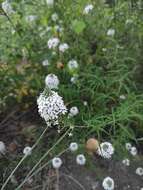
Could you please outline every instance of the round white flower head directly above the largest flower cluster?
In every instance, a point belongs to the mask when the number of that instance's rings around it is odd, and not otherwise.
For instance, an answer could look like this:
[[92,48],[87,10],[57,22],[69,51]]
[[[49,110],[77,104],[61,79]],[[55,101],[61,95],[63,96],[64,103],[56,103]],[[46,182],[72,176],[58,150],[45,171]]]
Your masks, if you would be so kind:
[[59,83],[58,77],[54,74],[49,74],[45,78],[45,84],[50,89],[58,89]]

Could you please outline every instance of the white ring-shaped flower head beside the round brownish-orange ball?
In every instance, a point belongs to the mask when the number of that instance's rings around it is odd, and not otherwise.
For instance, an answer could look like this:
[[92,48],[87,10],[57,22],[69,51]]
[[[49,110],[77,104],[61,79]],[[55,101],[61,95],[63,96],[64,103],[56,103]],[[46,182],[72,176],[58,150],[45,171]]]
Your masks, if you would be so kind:
[[102,156],[103,158],[108,158],[109,159],[114,154],[114,147],[109,142],[101,143],[98,150],[97,150],[97,153],[100,156]]

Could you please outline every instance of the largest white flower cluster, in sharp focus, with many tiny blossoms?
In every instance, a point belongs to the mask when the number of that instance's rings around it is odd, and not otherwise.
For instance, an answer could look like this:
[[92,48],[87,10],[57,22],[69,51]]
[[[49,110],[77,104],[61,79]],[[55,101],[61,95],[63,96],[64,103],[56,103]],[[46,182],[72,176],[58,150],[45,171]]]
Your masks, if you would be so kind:
[[39,114],[47,122],[47,125],[58,124],[59,117],[67,112],[62,97],[54,91],[51,91],[49,95],[45,91],[41,93],[37,104]]

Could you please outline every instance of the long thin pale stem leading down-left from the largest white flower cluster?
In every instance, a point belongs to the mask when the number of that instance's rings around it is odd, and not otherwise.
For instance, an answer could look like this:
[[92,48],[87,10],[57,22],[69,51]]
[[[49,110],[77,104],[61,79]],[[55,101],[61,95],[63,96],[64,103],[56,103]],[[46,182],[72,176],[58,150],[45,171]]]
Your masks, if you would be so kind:
[[[37,146],[37,144],[39,143],[39,141],[41,140],[41,138],[43,137],[43,135],[45,134],[45,132],[47,131],[48,126],[45,128],[45,130],[43,131],[43,133],[40,135],[40,137],[37,139],[37,141],[35,142],[35,144],[32,146],[32,150]],[[16,170],[19,168],[19,166],[22,164],[22,162],[26,159],[27,155],[24,155],[24,157],[19,161],[19,163],[17,164],[17,166],[14,168],[14,170],[11,172],[11,174],[9,175],[9,177],[7,178],[7,180],[4,182],[1,190],[3,190],[6,185],[8,184],[10,178],[13,176],[13,174],[16,172]]]

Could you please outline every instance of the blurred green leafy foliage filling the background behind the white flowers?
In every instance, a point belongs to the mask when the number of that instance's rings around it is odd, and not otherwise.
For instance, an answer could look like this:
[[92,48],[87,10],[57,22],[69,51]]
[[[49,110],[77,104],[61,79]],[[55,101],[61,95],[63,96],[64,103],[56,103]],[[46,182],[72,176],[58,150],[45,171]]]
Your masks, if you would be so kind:
[[[87,5],[83,0],[57,1],[53,7],[46,1],[11,2],[14,13],[0,16],[0,104],[5,109],[16,102],[24,104],[25,97],[35,100],[45,76],[54,73],[68,107],[80,110],[70,122],[87,126],[88,132],[80,133],[82,140],[91,134],[120,143],[135,140],[143,133],[142,3],[91,2],[94,8],[88,14],[83,14]],[[54,13],[58,14],[55,21]],[[115,35],[107,35],[109,29]],[[66,42],[68,51],[49,49],[47,41],[52,37]],[[45,59],[49,66],[42,65]],[[76,73],[67,69],[71,59],[79,63]],[[78,75],[76,84],[70,82],[74,74]]]

